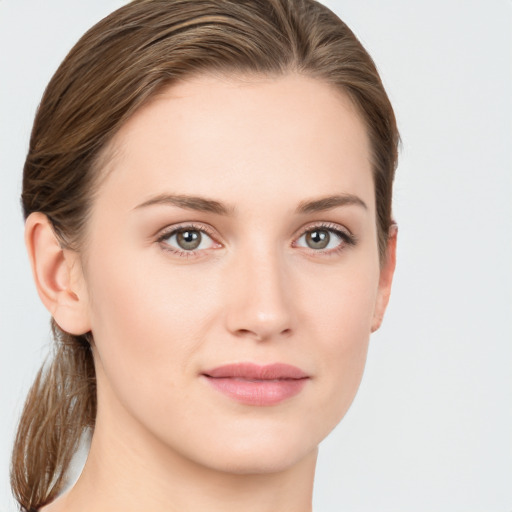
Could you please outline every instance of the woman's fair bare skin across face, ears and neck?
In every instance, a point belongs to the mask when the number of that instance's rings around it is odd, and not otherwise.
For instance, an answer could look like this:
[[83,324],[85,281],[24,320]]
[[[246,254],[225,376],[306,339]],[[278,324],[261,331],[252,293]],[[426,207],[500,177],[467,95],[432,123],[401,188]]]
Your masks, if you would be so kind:
[[[92,331],[98,382],[82,476],[43,510],[310,511],[317,446],[355,396],[394,270],[396,233],[379,261],[363,122],[304,76],[201,76],[139,110],[113,145],[80,254],[44,215],[27,221],[39,294],[63,329]],[[230,213],[140,207],[161,194]],[[333,194],[364,205],[295,211]],[[159,240],[190,222],[209,235],[188,257]],[[307,232],[326,223],[328,247],[312,248]],[[254,406],[201,376],[245,361],[309,379]]]

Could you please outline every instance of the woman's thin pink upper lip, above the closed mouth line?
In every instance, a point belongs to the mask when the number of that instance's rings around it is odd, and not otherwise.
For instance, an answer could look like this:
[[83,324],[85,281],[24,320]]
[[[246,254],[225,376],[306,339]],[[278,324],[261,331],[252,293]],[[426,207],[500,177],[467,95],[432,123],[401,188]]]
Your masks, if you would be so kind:
[[233,363],[218,366],[203,372],[203,375],[216,379],[238,378],[247,380],[305,379],[309,375],[300,368],[284,363],[258,365],[254,363]]

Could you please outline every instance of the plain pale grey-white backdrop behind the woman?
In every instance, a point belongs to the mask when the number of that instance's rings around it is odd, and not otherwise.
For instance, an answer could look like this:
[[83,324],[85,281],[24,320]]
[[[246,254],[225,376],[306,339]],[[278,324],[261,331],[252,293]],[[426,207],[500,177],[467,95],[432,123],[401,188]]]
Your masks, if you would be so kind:
[[[120,0],[0,0],[0,511],[49,316],[21,172],[43,89]],[[512,511],[512,2],[331,0],[403,139],[398,268],[356,400],[320,450],[321,512]]]

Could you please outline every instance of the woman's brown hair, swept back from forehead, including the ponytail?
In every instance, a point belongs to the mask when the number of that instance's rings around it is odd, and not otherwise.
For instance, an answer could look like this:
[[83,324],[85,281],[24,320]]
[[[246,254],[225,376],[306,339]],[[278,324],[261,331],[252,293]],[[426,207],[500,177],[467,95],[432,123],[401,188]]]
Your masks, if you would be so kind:
[[[23,174],[25,218],[44,213],[79,251],[109,142],[164,87],[201,73],[299,73],[348,95],[371,145],[379,255],[385,258],[399,134],[371,57],[314,0],[135,0],[91,28],[48,84]],[[94,428],[92,333],[52,319],[54,355],[39,371],[17,431],[11,486],[25,509],[62,490],[83,432]]]

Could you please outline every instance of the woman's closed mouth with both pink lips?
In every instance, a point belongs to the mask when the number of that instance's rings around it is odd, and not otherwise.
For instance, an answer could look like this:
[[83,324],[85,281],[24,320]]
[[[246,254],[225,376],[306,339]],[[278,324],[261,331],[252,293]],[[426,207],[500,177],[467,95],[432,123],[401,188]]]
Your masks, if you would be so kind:
[[276,363],[228,364],[203,372],[202,377],[225,396],[256,406],[276,405],[299,394],[309,375],[296,366]]

